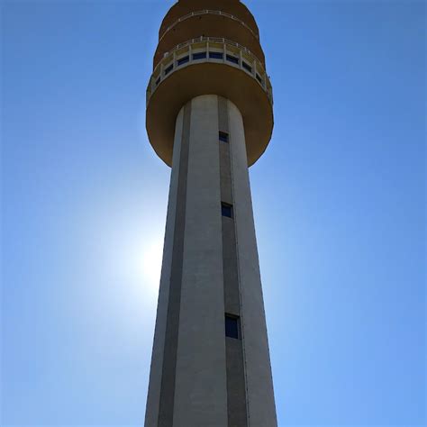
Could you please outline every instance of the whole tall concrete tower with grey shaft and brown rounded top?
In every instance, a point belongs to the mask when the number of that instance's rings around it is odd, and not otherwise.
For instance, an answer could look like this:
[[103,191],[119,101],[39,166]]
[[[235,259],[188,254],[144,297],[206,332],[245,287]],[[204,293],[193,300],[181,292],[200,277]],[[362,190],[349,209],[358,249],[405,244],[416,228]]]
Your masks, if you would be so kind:
[[259,30],[239,0],[163,19],[147,132],[172,167],[145,427],[276,427],[249,166],[273,129]]

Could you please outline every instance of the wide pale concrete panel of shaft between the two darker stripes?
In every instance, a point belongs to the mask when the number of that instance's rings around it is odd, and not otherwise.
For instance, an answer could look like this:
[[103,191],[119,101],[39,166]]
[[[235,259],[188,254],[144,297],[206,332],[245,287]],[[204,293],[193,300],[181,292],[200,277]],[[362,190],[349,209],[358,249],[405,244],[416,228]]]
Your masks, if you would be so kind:
[[218,99],[191,101],[174,426],[227,425]]

